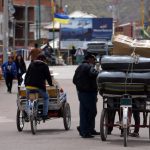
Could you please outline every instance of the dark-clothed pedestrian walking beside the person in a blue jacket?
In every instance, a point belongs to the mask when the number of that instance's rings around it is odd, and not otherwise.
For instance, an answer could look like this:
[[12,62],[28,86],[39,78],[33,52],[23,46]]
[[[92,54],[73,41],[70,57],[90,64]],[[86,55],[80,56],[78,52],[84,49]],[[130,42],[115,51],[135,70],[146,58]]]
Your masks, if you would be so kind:
[[26,64],[22,55],[18,54],[15,59],[15,64],[17,67],[17,80],[18,85],[21,85],[22,82],[22,75],[26,72]]

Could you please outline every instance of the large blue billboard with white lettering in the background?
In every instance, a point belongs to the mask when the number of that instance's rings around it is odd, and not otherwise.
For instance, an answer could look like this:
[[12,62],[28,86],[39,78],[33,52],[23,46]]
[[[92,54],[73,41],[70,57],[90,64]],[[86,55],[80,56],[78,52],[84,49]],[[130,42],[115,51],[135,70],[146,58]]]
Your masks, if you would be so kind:
[[69,24],[61,25],[61,48],[85,48],[87,43],[112,38],[112,18],[71,18]]

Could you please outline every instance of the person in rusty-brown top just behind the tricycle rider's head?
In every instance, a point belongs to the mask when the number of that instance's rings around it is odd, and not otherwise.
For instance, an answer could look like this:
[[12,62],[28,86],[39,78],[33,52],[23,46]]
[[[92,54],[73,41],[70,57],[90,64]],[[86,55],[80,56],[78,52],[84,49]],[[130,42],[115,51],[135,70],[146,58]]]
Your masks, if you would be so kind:
[[31,57],[31,61],[36,60],[37,56],[41,53],[41,49],[38,48],[38,44],[35,43],[34,48],[30,51],[29,56],[28,56],[28,60]]

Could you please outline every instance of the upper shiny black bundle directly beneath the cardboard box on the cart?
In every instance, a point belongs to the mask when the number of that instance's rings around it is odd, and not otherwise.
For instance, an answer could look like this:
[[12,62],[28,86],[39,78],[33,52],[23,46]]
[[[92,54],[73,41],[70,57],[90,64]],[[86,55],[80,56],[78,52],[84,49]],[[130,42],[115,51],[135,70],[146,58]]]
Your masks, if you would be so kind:
[[101,59],[101,67],[103,70],[150,71],[150,58],[105,55]]

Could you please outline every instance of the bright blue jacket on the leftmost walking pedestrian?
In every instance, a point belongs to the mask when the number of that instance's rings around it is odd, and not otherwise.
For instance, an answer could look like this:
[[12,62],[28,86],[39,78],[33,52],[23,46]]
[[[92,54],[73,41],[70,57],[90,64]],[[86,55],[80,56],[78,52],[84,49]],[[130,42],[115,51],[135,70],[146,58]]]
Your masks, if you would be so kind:
[[9,65],[8,61],[2,64],[2,72],[3,72],[4,78],[6,78],[7,74],[12,75],[13,77],[16,77],[16,75],[17,75],[17,68],[16,68],[15,62],[12,62],[10,64],[11,64],[10,71],[7,69],[8,65]]

